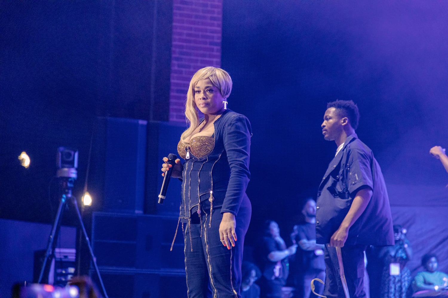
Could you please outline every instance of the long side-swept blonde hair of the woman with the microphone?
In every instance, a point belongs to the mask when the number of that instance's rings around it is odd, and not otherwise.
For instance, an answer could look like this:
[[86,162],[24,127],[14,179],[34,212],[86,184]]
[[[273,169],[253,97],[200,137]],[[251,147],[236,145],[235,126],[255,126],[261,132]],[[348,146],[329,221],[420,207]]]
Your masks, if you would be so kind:
[[185,102],[185,120],[190,126],[182,133],[181,140],[188,137],[199,126],[198,107],[194,101],[194,88],[198,81],[207,80],[220,90],[221,96],[224,99],[230,95],[232,91],[232,78],[230,78],[227,71],[218,67],[204,67],[196,71],[190,80],[190,87],[188,88],[187,101]]

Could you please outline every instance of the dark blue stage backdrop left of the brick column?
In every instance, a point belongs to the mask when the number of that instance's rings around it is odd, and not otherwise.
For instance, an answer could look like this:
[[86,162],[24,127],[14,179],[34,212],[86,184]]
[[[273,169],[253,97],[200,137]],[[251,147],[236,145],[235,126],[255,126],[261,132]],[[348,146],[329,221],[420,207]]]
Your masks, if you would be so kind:
[[98,116],[168,120],[171,33],[171,1],[0,2],[0,217],[52,222],[60,146],[81,195]]

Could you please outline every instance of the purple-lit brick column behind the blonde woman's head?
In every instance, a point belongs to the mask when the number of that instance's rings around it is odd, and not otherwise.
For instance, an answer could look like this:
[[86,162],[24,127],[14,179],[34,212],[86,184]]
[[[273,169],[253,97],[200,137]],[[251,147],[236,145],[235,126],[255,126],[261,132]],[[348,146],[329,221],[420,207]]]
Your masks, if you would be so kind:
[[221,66],[223,0],[173,0],[169,120],[185,122],[191,76]]

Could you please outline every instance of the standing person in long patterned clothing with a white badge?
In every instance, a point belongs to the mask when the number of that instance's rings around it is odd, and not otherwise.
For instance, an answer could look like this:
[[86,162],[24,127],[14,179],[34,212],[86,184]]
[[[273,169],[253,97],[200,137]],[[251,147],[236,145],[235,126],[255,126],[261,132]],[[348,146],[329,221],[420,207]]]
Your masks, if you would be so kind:
[[383,275],[381,277],[381,298],[406,298],[411,282],[411,272],[406,263],[412,257],[406,230],[401,225],[393,226],[395,244],[382,248]]

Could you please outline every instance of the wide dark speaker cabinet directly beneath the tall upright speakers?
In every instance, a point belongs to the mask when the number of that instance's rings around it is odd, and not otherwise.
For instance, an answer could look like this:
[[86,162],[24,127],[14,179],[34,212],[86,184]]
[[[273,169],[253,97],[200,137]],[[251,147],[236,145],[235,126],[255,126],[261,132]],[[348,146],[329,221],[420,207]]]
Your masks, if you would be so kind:
[[92,247],[99,267],[184,269],[181,227],[170,251],[177,218],[94,212]]

